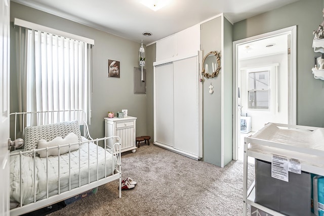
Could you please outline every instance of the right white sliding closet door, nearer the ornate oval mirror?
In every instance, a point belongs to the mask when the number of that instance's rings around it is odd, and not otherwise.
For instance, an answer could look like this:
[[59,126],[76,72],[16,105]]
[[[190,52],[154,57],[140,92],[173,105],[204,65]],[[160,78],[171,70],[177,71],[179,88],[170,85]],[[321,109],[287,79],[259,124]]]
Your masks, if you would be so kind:
[[174,148],[198,156],[197,57],[175,61]]

